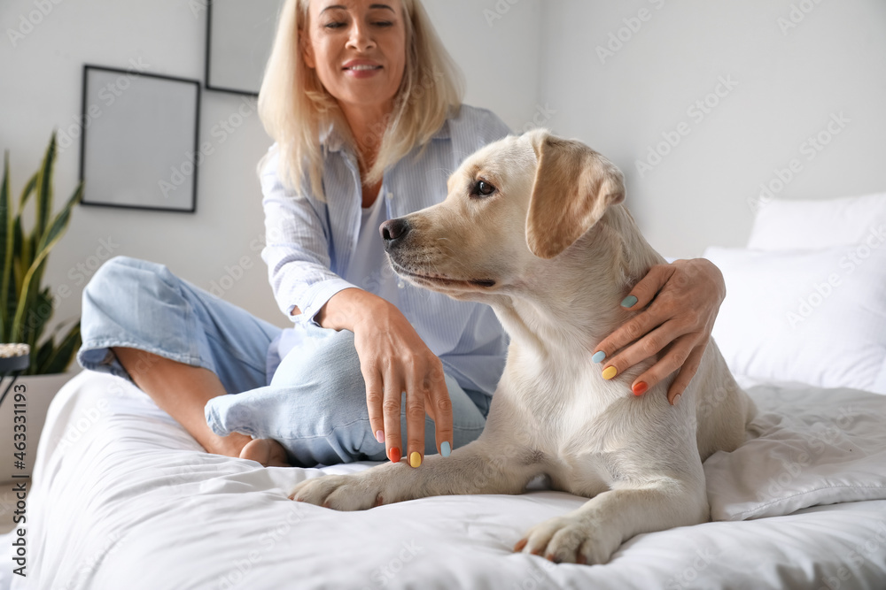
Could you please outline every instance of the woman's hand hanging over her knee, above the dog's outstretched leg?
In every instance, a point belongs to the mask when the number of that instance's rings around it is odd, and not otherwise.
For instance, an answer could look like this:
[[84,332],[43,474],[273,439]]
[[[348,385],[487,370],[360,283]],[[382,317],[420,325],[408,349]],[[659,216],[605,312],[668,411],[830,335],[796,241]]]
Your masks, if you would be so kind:
[[424,459],[424,415],[434,421],[437,448],[446,456],[452,449],[452,403],[443,376],[443,364],[428,349],[403,314],[391,303],[361,289],[333,295],[317,314],[327,328],[354,332],[354,347],[366,382],[369,424],[385,443],[392,462],[401,457],[400,403],[406,392],[409,464]]

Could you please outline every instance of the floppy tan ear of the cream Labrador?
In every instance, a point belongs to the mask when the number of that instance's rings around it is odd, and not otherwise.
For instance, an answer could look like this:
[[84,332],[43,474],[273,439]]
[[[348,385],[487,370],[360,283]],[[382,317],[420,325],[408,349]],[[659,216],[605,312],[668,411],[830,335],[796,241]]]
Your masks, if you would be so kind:
[[538,157],[526,242],[537,257],[553,258],[569,248],[603,216],[625,200],[622,173],[582,142],[546,131],[529,135]]

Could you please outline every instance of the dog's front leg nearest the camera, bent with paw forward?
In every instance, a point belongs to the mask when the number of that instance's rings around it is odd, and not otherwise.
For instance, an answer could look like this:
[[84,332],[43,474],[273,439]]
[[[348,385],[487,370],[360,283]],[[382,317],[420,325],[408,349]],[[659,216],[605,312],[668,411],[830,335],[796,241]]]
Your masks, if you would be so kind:
[[709,517],[703,477],[661,477],[598,494],[578,510],[532,527],[514,549],[556,563],[607,563],[635,534],[696,525]]

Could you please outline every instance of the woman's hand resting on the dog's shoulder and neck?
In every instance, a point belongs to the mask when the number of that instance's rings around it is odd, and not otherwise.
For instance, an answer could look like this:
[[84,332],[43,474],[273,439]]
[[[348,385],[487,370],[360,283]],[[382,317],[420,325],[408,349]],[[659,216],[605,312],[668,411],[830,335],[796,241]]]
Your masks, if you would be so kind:
[[646,309],[603,339],[595,356],[605,354],[603,370],[612,366],[617,371],[613,374],[621,374],[665,350],[656,364],[634,379],[631,390],[643,395],[679,369],[667,393],[668,402],[674,404],[702,362],[725,297],[723,275],[709,260],[694,258],[653,266],[622,302],[626,308]]

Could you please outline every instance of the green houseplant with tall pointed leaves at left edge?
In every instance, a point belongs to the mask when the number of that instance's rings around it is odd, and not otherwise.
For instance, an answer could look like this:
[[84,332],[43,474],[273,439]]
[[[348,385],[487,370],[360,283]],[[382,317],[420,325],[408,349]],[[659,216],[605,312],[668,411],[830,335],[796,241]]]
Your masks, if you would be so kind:
[[[24,374],[65,372],[80,348],[80,322],[59,336],[58,328],[47,338],[43,333],[54,303],[49,287],[43,287],[46,260],[65,234],[71,210],[80,201],[81,182],[65,205],[53,216],[52,170],[56,157],[56,135],[52,134],[43,163],[27,181],[17,206],[9,189],[9,153],[4,153],[3,184],[0,185],[0,336],[4,342],[23,342],[31,347],[31,365]],[[32,199],[32,196],[34,197]],[[33,222],[22,218],[33,203]],[[29,226],[28,226],[29,225]],[[57,338],[58,337],[58,338]]]

